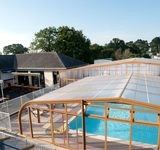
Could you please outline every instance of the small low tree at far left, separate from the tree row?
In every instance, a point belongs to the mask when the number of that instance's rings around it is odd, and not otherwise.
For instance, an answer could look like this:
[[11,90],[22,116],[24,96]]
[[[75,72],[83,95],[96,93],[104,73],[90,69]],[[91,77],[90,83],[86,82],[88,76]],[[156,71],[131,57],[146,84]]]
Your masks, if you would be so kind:
[[24,54],[26,52],[28,52],[28,48],[24,47],[22,44],[12,44],[3,48],[4,55]]

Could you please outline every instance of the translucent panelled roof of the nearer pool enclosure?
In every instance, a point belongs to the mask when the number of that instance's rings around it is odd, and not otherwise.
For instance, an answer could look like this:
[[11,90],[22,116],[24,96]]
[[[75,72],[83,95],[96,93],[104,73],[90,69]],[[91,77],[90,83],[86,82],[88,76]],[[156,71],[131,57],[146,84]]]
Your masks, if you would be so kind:
[[101,98],[127,99],[137,104],[152,104],[160,108],[160,77],[141,74],[86,77],[34,101]]

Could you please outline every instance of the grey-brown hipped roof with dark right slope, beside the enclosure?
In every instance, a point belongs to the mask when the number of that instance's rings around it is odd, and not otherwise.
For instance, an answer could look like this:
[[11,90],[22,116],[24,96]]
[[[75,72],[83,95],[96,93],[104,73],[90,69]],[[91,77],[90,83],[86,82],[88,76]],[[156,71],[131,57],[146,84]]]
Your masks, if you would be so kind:
[[58,52],[16,54],[17,69],[68,69],[87,63]]

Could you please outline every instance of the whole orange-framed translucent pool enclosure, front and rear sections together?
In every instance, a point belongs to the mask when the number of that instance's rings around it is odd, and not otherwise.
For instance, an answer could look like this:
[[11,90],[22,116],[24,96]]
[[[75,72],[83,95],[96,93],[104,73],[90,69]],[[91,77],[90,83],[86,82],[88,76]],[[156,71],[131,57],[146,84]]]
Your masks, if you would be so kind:
[[74,83],[25,102],[19,134],[67,149],[159,149],[160,61],[133,58],[60,75],[60,83]]

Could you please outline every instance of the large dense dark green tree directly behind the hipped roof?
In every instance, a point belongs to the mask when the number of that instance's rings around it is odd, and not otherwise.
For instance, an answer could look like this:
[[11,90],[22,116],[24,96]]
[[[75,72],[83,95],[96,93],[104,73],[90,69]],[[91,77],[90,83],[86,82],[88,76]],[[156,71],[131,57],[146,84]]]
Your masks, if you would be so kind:
[[90,62],[90,43],[81,30],[62,26],[57,29],[55,51],[84,62]]

